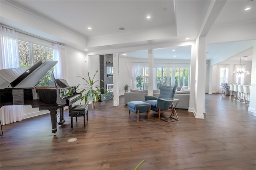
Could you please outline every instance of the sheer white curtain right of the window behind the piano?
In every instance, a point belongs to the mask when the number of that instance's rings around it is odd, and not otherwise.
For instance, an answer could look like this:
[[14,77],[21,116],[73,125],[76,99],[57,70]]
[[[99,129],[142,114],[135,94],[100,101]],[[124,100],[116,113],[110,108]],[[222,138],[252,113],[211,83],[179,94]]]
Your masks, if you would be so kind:
[[56,79],[66,79],[67,76],[67,62],[66,62],[66,47],[64,45],[60,45],[54,43],[54,61],[58,61],[58,63],[54,67],[54,77]]

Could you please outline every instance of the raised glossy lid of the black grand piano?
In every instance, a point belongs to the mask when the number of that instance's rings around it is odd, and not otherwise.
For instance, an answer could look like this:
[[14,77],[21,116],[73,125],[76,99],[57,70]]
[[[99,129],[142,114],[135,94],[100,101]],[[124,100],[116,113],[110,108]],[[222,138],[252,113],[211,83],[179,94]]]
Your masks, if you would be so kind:
[[[5,89],[34,89],[57,62],[58,61],[38,61],[21,75],[18,75],[12,82],[9,82]],[[1,70],[1,72],[2,71],[3,70]],[[10,69],[8,71],[10,71]]]

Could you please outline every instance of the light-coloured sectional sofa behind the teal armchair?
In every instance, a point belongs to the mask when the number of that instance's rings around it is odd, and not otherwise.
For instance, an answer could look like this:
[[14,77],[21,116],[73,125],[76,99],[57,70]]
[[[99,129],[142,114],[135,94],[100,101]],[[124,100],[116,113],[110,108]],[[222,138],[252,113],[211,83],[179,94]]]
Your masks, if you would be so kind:
[[[174,94],[174,99],[179,99],[179,102],[176,106],[177,109],[188,109],[189,107],[189,89],[185,90],[177,87],[178,91]],[[153,90],[153,96],[158,97],[160,90]],[[148,91],[138,91],[138,90],[130,90],[129,92],[124,93],[124,104],[127,105],[129,101],[144,101],[144,95],[148,95]],[[176,103],[174,103],[175,105]]]

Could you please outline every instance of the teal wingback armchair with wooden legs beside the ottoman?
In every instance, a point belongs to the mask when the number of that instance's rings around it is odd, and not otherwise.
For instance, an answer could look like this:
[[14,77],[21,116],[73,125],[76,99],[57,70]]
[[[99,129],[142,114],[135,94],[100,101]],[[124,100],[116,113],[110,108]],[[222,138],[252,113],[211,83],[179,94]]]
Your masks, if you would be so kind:
[[148,96],[145,95],[144,99],[146,103],[151,105],[151,110],[158,112],[158,119],[160,119],[160,113],[163,111],[168,111],[170,108],[171,101],[163,101],[161,99],[170,99],[174,97],[177,85],[168,86],[168,85],[159,85],[159,96]]

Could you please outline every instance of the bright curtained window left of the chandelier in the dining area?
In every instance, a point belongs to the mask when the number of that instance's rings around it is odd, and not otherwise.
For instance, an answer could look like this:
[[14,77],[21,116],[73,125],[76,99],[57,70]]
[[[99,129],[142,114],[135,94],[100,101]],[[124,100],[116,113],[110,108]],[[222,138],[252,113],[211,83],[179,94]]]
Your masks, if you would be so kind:
[[229,83],[229,70],[230,65],[228,64],[218,64],[218,77],[217,77],[217,92],[221,91],[221,83]]

